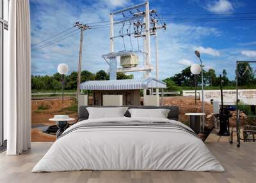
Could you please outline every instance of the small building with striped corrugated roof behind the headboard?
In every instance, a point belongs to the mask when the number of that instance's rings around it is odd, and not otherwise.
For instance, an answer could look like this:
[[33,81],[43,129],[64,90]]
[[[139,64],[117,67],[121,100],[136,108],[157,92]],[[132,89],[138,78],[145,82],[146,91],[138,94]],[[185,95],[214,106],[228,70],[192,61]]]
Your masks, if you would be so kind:
[[[147,89],[153,91],[154,88],[161,88],[163,92],[163,88],[166,88],[166,83],[148,77],[140,79],[86,81],[80,84],[81,90],[91,90],[93,92],[93,106],[111,106],[111,104],[119,106],[140,106],[140,90]],[[143,100],[144,105],[146,103],[148,105],[152,104],[150,101],[153,100],[156,101],[156,105],[158,100],[159,105],[159,95],[153,95],[153,92],[149,93],[150,95],[147,95],[146,99]]]

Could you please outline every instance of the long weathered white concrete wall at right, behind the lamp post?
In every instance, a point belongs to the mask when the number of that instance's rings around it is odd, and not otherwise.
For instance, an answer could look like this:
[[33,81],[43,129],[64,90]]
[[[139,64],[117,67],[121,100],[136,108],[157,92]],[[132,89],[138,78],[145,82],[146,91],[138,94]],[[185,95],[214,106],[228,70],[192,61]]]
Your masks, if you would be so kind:
[[[202,100],[202,91],[197,91]],[[195,90],[184,90],[183,96],[195,97]],[[220,90],[204,90],[205,102],[214,101],[221,102]],[[256,89],[238,90],[238,99],[244,104],[256,105]],[[236,104],[236,90],[223,90],[223,102],[225,105]]]

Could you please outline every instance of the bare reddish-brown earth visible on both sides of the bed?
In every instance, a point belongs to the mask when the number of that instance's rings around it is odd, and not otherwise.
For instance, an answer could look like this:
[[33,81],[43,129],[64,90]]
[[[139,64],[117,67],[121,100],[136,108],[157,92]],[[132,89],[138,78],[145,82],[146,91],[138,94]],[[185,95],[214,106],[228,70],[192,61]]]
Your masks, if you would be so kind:
[[[49,122],[49,118],[54,115],[69,115],[77,119],[77,113],[74,111],[63,110],[65,107],[74,104],[73,98],[65,98],[64,104],[61,99],[45,99],[45,100],[32,100],[32,129],[31,141],[55,141],[56,136],[42,132],[42,129],[47,128],[49,125],[55,125],[55,122]],[[164,97],[165,106],[179,106],[180,109],[180,122],[188,123],[188,116],[185,113],[201,113],[202,102],[199,100],[195,104],[193,97]],[[40,107],[47,109],[38,110]],[[211,114],[213,111],[212,105],[205,103],[205,113]],[[211,120],[211,119],[210,119]]]

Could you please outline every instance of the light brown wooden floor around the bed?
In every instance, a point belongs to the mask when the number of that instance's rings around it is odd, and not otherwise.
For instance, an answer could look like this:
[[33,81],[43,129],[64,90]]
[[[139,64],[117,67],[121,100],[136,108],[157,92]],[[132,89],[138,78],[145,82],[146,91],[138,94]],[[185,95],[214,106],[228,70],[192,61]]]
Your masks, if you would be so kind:
[[31,150],[18,156],[0,154],[0,182],[256,182],[256,143],[207,142],[225,172],[194,171],[65,171],[31,173],[52,143],[32,143]]

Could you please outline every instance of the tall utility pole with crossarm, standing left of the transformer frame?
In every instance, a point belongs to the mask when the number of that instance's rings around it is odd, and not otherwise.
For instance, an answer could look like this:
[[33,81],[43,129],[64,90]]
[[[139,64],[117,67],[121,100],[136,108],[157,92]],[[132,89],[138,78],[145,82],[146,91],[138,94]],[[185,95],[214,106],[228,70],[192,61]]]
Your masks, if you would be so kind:
[[82,51],[83,51],[83,31],[90,29],[89,26],[86,26],[86,24],[81,24],[79,22],[76,22],[75,27],[78,27],[81,30],[80,33],[80,49],[79,49],[79,60],[78,60],[78,71],[77,71],[77,85],[76,85],[76,100],[78,100],[78,96],[80,93],[79,84],[81,82],[81,67],[82,67]]

